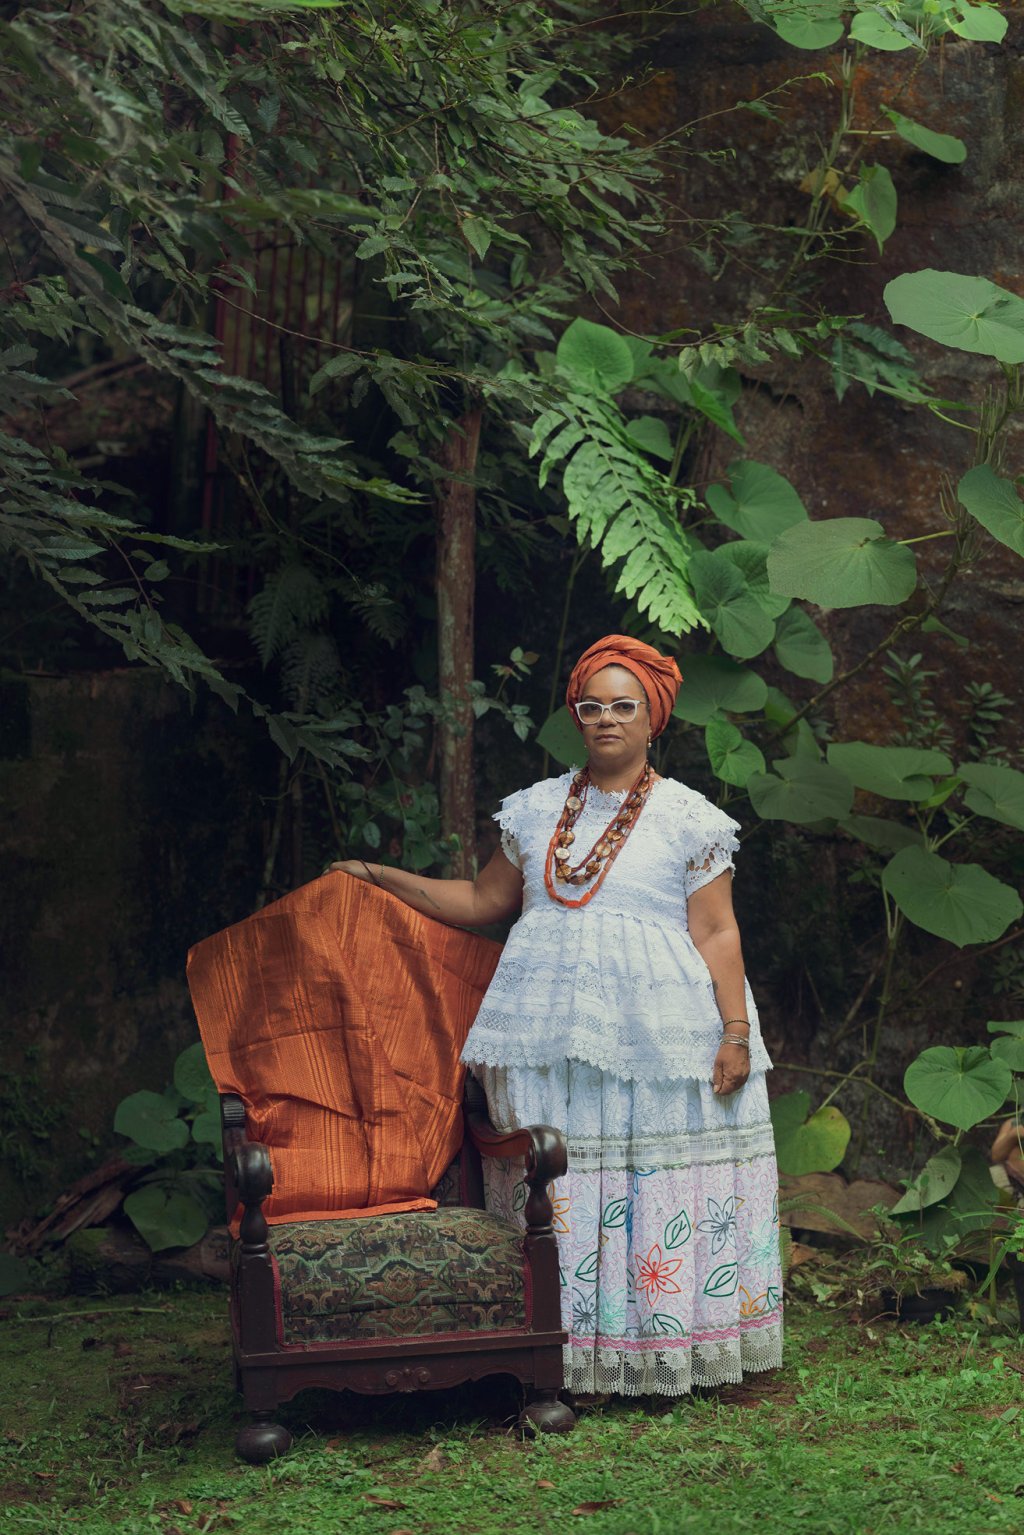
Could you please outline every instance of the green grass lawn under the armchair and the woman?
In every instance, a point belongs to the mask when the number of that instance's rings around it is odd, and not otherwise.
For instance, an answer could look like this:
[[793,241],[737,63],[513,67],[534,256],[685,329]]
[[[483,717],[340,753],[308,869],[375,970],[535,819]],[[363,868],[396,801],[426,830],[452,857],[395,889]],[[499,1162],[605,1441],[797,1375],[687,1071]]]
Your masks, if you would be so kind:
[[60,1535],[1024,1535],[1024,1339],[797,1300],[786,1365],[525,1441],[517,1389],[307,1394],[243,1467],[220,1296],[23,1302],[0,1328],[0,1529]]

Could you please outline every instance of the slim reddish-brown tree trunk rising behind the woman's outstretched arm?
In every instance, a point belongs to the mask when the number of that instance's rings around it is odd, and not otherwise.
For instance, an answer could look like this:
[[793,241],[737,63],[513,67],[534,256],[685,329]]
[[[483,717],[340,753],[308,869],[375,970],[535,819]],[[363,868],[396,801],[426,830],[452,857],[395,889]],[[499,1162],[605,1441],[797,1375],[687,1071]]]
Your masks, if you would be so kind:
[[447,471],[438,480],[438,680],[454,725],[441,729],[441,829],[461,850],[451,860],[457,880],[476,872],[476,797],[473,792],[473,596],[476,588],[476,488],[471,477],[481,445],[481,408],[453,422],[438,453]]

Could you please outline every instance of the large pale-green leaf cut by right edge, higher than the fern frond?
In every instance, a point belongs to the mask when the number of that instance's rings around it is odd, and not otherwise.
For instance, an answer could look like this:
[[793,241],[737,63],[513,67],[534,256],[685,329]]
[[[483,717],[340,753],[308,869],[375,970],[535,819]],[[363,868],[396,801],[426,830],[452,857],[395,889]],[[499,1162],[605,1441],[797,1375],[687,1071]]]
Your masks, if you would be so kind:
[[1024,362],[1024,299],[989,278],[924,267],[894,278],[883,298],[894,321],[921,336],[999,362]]

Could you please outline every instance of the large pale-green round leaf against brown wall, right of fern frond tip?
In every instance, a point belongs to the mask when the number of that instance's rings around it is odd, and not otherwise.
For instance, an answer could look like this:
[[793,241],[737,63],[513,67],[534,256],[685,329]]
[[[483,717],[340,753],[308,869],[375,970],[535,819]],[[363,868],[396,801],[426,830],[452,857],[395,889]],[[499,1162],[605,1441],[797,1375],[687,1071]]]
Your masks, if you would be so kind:
[[917,586],[917,562],[872,517],[834,517],[788,528],[768,553],[772,591],[820,608],[894,606]]

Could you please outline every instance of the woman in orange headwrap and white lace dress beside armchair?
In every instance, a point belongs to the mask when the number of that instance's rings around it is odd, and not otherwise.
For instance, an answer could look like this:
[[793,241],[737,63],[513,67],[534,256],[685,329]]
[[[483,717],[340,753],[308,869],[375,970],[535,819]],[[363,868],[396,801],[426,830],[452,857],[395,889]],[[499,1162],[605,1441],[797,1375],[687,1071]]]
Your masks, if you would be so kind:
[[[567,703],[588,766],[510,795],[476,880],[344,863],[467,927],[519,912],[464,1048],[500,1128],[557,1125],[565,1383],[679,1395],[781,1363],[771,1061],[732,915],[735,821],[660,778],[682,677],[611,634]],[[516,1219],[522,1170],[491,1167]]]

